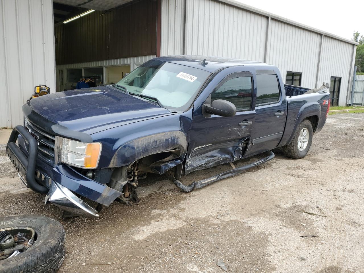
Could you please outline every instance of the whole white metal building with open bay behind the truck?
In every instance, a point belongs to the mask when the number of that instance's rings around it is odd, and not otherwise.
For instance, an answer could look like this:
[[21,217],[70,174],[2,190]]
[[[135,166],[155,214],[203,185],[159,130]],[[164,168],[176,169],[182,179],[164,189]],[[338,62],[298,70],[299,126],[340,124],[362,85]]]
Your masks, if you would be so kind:
[[86,75],[107,84],[161,55],[274,64],[286,83],[330,82],[332,104],[350,103],[357,43],[233,0],[0,3],[0,127],[22,123],[35,85],[63,91]]

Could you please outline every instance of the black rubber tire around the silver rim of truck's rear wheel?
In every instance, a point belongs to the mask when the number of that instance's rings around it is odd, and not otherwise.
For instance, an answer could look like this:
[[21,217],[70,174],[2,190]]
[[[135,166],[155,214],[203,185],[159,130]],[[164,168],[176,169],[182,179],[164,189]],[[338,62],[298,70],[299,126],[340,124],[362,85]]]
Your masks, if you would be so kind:
[[[306,148],[303,151],[300,151],[298,149],[298,138],[300,136],[300,132],[303,128],[307,128],[309,137],[308,137],[308,143]],[[312,130],[312,124],[308,119],[305,119],[301,122],[301,124],[297,127],[296,132],[294,133],[294,137],[289,145],[283,146],[283,153],[286,155],[286,157],[294,158],[294,159],[300,159],[306,156],[308,151],[311,147],[312,142],[312,136],[313,136],[313,130]]]

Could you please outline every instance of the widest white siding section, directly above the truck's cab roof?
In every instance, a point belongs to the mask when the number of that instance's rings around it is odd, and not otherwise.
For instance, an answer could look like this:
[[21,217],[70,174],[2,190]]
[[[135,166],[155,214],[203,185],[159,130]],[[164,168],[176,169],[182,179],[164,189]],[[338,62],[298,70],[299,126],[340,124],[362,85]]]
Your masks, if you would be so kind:
[[264,61],[267,18],[214,0],[187,0],[185,54]]

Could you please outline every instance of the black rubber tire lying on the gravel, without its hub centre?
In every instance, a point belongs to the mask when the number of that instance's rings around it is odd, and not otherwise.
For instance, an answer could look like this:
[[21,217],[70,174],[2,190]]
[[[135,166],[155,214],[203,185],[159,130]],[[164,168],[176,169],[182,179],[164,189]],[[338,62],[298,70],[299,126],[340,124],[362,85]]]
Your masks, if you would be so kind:
[[37,234],[37,240],[23,253],[0,261],[0,273],[58,271],[66,253],[66,233],[60,222],[39,215],[0,217],[0,230],[8,227],[31,227]]

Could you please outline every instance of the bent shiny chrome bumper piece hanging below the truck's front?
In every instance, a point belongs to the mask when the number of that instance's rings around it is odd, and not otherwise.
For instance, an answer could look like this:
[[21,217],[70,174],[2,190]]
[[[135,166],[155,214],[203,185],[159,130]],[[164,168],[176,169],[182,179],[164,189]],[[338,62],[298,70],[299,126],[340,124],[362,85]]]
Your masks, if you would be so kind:
[[46,198],[44,198],[44,202],[51,202],[61,209],[73,214],[94,218],[99,217],[99,214],[95,209],[83,202],[69,189],[54,181],[52,181],[51,188],[46,195]]

